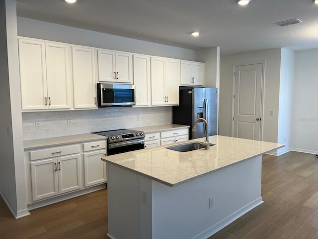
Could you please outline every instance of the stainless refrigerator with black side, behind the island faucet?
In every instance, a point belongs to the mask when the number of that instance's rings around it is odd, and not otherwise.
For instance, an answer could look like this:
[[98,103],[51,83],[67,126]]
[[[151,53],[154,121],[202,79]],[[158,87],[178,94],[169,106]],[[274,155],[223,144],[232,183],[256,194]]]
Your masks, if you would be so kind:
[[218,134],[218,89],[204,87],[180,87],[179,106],[173,107],[172,122],[190,125],[189,139],[205,137],[203,122],[192,131],[195,120],[204,118],[209,124],[209,136]]

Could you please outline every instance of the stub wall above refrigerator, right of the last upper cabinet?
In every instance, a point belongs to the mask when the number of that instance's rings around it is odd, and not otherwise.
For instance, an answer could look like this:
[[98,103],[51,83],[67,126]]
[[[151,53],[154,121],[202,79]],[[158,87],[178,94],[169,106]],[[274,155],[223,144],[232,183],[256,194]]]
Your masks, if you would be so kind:
[[197,51],[197,61],[205,62],[205,87],[219,88],[220,83],[220,47]]

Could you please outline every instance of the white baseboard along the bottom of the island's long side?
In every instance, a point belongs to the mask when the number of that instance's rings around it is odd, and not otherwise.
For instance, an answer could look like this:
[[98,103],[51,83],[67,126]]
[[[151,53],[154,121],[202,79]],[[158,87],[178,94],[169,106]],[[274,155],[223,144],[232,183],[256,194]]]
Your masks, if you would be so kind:
[[260,204],[263,203],[262,197],[259,197],[255,199],[254,201],[250,202],[249,204],[245,205],[244,207],[240,208],[238,211],[232,213],[228,217],[224,218],[217,224],[213,225],[212,227],[206,229],[202,233],[199,233],[198,235],[194,236],[192,239],[206,239],[211,237],[212,235],[216,234],[226,226],[233,223],[235,220],[243,216],[245,213],[249,212],[253,208],[256,208]]

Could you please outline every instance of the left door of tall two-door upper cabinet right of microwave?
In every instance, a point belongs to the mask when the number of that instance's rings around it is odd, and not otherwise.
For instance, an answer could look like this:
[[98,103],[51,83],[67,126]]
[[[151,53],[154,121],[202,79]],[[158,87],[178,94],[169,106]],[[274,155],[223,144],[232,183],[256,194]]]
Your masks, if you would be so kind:
[[165,105],[165,59],[151,58],[151,104]]

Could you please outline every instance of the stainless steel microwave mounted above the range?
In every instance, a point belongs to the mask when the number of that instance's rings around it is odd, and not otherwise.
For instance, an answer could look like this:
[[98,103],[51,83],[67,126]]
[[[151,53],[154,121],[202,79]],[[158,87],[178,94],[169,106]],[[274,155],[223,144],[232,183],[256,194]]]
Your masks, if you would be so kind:
[[97,83],[98,107],[136,105],[135,85]]

